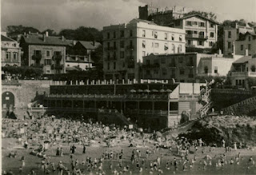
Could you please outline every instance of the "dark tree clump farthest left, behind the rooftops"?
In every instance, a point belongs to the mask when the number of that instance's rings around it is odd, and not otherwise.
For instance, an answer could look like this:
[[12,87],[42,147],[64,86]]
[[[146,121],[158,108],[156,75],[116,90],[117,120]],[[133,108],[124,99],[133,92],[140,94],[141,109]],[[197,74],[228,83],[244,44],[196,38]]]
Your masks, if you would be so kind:
[[6,33],[8,36],[17,36],[18,34],[28,34],[28,33],[40,33],[38,29],[35,29],[32,26],[7,26],[6,27]]

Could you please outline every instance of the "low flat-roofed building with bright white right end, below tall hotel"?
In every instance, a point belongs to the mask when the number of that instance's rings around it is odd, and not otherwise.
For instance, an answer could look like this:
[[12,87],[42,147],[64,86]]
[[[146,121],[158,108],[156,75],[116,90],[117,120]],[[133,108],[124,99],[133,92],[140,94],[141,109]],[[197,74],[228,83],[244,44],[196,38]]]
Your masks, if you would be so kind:
[[238,58],[223,58],[222,54],[150,54],[143,58],[142,78],[195,82],[197,76],[226,76]]

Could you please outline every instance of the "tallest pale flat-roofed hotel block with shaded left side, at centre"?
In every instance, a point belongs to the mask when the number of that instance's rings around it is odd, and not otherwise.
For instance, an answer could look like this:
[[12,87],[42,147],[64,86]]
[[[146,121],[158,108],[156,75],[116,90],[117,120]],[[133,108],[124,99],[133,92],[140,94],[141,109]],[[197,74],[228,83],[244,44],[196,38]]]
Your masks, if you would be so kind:
[[103,71],[106,79],[139,79],[142,57],[185,53],[185,30],[133,19],[103,27]]

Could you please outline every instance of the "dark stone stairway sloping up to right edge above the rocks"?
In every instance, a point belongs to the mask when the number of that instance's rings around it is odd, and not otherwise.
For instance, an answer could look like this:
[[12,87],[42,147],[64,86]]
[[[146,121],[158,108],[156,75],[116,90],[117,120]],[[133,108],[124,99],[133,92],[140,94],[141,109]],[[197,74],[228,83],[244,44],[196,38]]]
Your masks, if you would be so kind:
[[[242,116],[256,109],[256,96],[222,109],[223,114]],[[254,114],[256,116],[256,113]]]

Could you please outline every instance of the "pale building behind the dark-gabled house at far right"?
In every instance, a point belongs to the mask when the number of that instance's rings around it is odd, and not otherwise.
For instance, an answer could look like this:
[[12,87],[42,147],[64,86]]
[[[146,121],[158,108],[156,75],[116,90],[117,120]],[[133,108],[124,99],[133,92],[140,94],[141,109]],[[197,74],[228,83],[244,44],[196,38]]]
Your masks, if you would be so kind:
[[[226,26],[223,34],[223,54],[230,56],[233,54],[238,54],[234,53],[234,51],[236,51],[234,50],[234,42],[239,38],[239,34],[246,34],[246,32],[254,33],[254,28],[250,27],[248,24],[246,24],[246,26],[242,26],[238,25],[238,23],[235,23],[234,26]],[[241,53],[240,50],[238,51]]]

